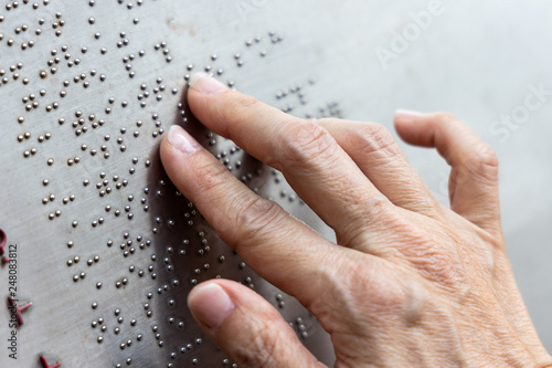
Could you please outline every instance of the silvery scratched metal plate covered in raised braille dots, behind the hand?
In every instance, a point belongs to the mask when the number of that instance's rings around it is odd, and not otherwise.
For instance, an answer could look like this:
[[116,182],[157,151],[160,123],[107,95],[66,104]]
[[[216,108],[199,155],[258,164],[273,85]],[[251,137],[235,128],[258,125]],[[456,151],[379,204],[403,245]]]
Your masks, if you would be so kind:
[[[185,307],[193,283],[216,275],[252,284],[331,361],[315,319],[243,265],[162,172],[160,138],[182,124],[252,189],[331,238],[277,172],[210,136],[179,105],[185,75],[205,67],[297,116],[342,115],[391,128],[392,112],[407,107],[468,122],[502,160],[509,252],[552,346],[552,108],[545,101],[516,128],[496,123],[523,104],[528,85],[552,83],[549,2],[443,1],[386,67],[375,51],[392,50],[412,12],[431,1],[14,3],[0,8],[0,229],[18,244],[18,298],[34,304],[18,328],[18,360],[2,343],[0,367],[43,367],[40,356],[62,367],[231,366]],[[445,200],[444,164],[405,149]],[[2,341],[8,286],[2,265]]]

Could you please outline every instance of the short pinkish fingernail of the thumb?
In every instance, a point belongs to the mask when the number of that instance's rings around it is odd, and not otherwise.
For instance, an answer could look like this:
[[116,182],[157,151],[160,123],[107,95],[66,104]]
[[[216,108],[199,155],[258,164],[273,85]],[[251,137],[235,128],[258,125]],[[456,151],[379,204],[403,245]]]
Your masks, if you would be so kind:
[[217,284],[195,286],[188,296],[193,316],[209,328],[217,328],[234,309],[229,294]]

